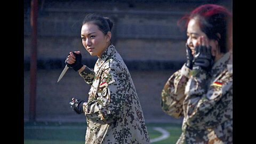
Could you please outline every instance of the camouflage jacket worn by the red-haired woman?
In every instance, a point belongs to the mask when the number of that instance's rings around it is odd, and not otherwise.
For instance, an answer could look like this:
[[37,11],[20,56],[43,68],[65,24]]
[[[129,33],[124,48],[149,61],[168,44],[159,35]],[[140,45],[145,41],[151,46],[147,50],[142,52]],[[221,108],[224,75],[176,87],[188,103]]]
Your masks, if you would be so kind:
[[232,55],[223,55],[209,73],[183,65],[166,82],[163,111],[184,116],[177,143],[233,143]]

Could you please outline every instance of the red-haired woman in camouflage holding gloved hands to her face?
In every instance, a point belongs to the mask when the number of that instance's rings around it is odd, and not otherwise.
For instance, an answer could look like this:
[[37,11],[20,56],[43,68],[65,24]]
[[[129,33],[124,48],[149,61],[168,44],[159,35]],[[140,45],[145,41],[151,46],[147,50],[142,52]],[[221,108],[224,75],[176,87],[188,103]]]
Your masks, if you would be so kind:
[[187,62],[166,82],[162,109],[184,116],[177,143],[233,143],[232,15],[206,4],[180,19],[182,24]]

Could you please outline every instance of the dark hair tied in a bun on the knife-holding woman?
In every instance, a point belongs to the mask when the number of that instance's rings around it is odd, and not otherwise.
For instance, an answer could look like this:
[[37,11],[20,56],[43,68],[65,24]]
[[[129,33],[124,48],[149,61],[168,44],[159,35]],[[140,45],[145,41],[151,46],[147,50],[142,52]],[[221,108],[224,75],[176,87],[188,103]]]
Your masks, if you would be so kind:
[[83,25],[87,22],[97,25],[99,30],[101,30],[105,35],[107,35],[108,31],[111,31],[111,28],[113,27],[113,22],[109,18],[101,17],[96,14],[87,14],[83,20]]

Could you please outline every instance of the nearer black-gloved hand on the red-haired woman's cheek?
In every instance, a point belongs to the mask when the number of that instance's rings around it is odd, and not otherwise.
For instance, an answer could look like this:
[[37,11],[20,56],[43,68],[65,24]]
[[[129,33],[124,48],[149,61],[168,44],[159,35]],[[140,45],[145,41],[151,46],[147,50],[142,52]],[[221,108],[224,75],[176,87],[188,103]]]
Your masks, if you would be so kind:
[[211,54],[211,46],[198,45],[195,47],[195,55],[193,60],[193,69],[202,68],[206,71],[210,71],[214,57]]

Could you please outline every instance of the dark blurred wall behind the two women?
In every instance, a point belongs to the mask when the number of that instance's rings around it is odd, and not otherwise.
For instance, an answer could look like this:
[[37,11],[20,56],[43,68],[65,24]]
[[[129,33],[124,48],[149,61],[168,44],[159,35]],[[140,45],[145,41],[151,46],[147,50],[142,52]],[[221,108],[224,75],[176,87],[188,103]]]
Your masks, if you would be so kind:
[[161,91],[186,59],[186,30],[177,21],[207,3],[233,12],[232,0],[39,0],[36,94],[30,105],[31,1],[24,1],[24,121],[86,121],[69,102],[74,96],[87,101],[90,85],[73,69],[57,80],[69,51],[81,51],[84,65],[94,67],[98,57],[84,49],[80,34],[85,15],[97,13],[114,22],[111,42],[130,70],[146,123],[181,123],[162,111]]

